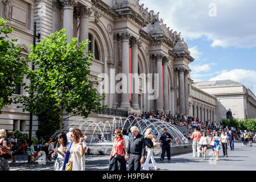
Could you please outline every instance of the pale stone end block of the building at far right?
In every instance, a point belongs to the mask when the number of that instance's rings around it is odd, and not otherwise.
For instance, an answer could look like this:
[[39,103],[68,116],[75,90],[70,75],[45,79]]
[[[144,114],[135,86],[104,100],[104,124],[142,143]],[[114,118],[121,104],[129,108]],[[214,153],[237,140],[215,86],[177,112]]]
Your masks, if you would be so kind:
[[250,89],[239,82],[232,80],[203,81],[195,82],[193,86],[217,98],[217,121],[229,117],[229,114],[237,119],[256,118],[256,97]]

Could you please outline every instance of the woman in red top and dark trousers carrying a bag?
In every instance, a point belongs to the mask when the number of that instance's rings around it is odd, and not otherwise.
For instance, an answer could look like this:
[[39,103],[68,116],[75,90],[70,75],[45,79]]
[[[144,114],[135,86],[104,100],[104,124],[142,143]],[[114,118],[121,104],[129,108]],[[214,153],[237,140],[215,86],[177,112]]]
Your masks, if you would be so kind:
[[115,129],[115,139],[109,157],[109,171],[126,171],[126,144],[122,131]]

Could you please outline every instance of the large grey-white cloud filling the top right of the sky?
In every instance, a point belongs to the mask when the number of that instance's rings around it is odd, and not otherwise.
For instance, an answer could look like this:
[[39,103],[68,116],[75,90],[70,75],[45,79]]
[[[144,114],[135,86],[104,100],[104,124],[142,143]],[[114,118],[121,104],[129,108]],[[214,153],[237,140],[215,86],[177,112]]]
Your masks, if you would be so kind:
[[[185,40],[206,37],[211,47],[256,46],[255,0],[141,0],[144,7],[160,12],[167,27],[181,32]],[[210,3],[216,5],[216,16],[209,16]]]

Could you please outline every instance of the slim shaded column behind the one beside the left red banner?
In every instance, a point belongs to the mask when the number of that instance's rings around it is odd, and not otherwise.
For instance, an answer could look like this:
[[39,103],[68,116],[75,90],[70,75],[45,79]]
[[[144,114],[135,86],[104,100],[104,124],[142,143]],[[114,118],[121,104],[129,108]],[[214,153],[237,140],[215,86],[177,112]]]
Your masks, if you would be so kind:
[[[119,36],[118,34],[114,34],[113,35],[113,49],[114,49],[114,62],[115,62],[115,76],[118,74],[118,70],[119,70]],[[115,83],[115,85],[117,85],[118,80],[113,80],[113,82]],[[118,93],[114,93],[114,101],[113,101],[113,108],[117,109],[117,107],[119,106],[119,101],[118,101]]]

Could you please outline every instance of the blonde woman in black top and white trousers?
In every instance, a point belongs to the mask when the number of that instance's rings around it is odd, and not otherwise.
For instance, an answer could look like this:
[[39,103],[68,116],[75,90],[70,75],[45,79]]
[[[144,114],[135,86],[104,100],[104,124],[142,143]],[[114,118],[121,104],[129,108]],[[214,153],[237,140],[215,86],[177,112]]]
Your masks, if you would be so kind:
[[153,151],[154,151],[154,143],[153,142],[157,142],[158,140],[155,139],[154,135],[151,134],[151,130],[152,130],[151,128],[148,128],[146,130],[146,132],[144,133],[144,140],[145,140],[146,151],[147,151],[147,159],[144,162],[143,170],[148,171],[148,163],[151,159],[151,162],[152,162],[155,170],[159,171],[160,168],[157,166],[157,164],[155,162],[154,155],[153,155]]

